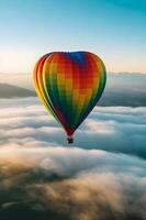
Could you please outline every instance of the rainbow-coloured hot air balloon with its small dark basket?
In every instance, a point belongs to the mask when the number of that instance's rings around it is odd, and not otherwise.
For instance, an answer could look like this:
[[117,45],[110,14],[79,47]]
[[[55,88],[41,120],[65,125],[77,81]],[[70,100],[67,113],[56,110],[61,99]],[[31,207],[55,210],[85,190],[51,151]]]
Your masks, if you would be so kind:
[[104,90],[103,62],[89,52],[53,52],[38,59],[33,78],[37,96],[72,143],[72,134]]

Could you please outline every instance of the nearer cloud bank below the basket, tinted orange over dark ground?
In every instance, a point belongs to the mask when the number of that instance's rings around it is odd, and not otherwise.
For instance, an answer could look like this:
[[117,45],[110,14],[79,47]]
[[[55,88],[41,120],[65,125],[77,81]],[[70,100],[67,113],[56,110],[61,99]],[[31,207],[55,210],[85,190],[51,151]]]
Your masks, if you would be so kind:
[[[34,219],[145,219],[146,162],[65,147],[3,147],[0,213]],[[4,199],[3,199],[4,198]]]

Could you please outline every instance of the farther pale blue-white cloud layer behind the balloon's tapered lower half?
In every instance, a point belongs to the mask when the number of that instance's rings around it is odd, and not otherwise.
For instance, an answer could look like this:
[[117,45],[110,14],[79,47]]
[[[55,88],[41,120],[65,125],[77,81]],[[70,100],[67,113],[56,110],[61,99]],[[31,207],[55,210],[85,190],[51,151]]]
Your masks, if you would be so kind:
[[[65,145],[66,134],[37,98],[2,100],[0,143]],[[74,146],[146,158],[146,108],[96,107],[75,133]]]

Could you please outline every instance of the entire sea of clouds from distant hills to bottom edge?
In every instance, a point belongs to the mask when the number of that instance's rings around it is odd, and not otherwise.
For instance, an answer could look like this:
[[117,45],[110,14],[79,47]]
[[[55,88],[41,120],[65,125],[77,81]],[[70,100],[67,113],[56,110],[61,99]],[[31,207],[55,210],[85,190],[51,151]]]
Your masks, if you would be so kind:
[[145,220],[145,160],[146,108],[96,107],[68,146],[37,98],[0,100],[4,220]]

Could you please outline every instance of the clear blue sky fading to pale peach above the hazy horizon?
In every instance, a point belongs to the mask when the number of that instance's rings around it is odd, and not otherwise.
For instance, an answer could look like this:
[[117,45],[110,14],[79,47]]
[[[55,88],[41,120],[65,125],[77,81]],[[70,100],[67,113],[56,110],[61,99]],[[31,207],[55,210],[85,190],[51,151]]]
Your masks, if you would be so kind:
[[0,0],[0,73],[52,51],[90,51],[108,72],[146,73],[145,0]]

